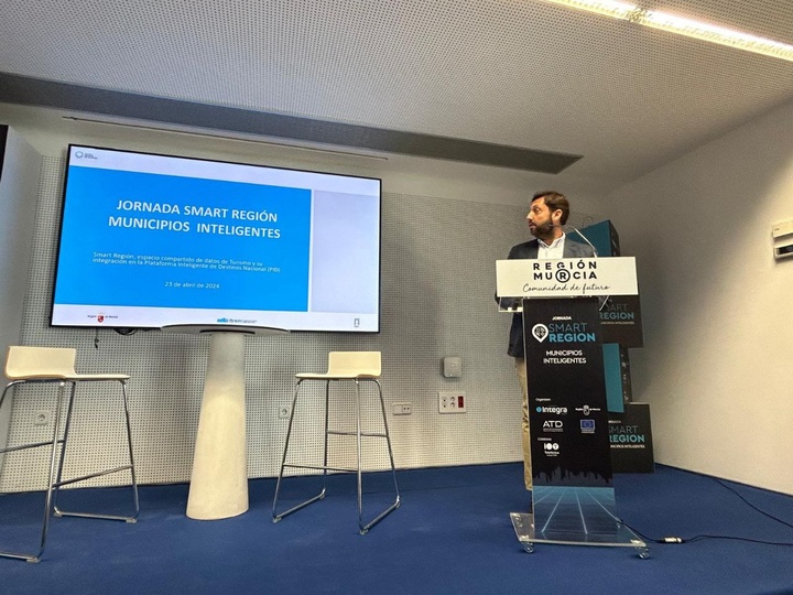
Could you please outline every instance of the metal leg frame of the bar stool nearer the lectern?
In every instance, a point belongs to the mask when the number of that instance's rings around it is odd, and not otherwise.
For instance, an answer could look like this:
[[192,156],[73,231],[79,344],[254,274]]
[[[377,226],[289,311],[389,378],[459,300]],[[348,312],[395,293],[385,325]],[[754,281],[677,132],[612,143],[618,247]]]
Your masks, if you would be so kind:
[[[287,454],[289,454],[289,447],[290,447],[290,440],[292,437],[293,432],[293,423],[294,423],[294,416],[295,411],[297,409],[297,401],[298,401],[298,394],[301,385],[306,380],[323,380],[325,381],[325,436],[324,436],[324,452],[323,452],[323,464],[322,465],[304,465],[304,464],[297,464],[297,463],[287,463]],[[356,431],[355,432],[348,432],[348,431],[339,431],[339,430],[332,430],[329,428],[328,422],[328,410],[329,410],[329,394],[330,394],[330,382],[332,381],[340,381],[340,380],[354,380],[356,383]],[[361,428],[361,382],[374,382],[378,389],[378,397],[380,400],[380,412],[382,414],[382,421],[383,421],[383,432],[365,432]],[[328,436],[330,435],[340,435],[340,436],[355,436],[356,437],[356,458],[357,458],[357,466],[356,468],[347,468],[347,467],[332,467],[328,465]],[[363,520],[363,489],[362,489],[362,446],[361,446],[361,439],[362,437],[378,437],[378,439],[384,439],[385,444],[388,447],[388,455],[389,455],[389,462],[391,466],[391,476],[393,479],[393,488],[394,488],[394,501],[387,507],[382,512],[377,515],[373,519],[371,519],[369,522],[365,522]],[[308,498],[307,500],[304,500],[289,510],[285,510],[283,512],[278,511],[278,504],[279,504],[279,496],[281,494],[281,487],[283,483],[283,474],[284,469],[286,468],[293,468],[293,469],[315,469],[315,470],[322,470],[323,475],[323,483],[322,483],[322,489],[318,494],[315,496]],[[292,512],[296,512],[297,510],[317,501],[322,500],[325,497],[326,494],[326,479],[327,479],[327,473],[328,472],[339,472],[339,473],[355,473],[357,475],[357,496],[358,496],[358,528],[360,534],[365,534],[371,529],[374,524],[380,522],[383,518],[385,518],[387,515],[399,508],[400,506],[400,494],[399,494],[399,486],[397,484],[397,469],[394,467],[394,459],[393,459],[393,451],[391,448],[391,436],[389,434],[388,430],[388,420],[385,418],[385,403],[383,401],[382,396],[382,387],[377,378],[300,378],[297,380],[297,383],[295,386],[294,397],[292,399],[292,412],[290,414],[289,420],[289,428],[286,430],[286,443],[284,445],[284,452],[283,456],[281,458],[281,468],[279,470],[279,477],[278,483],[275,484],[275,496],[273,498],[273,522],[278,522],[284,517],[291,515]]]

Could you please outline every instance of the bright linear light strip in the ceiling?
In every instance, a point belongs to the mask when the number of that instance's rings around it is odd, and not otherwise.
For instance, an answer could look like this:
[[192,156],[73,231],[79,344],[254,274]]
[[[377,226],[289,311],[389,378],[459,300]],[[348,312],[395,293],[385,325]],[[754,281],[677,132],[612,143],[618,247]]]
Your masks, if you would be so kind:
[[665,12],[642,9],[636,4],[618,0],[543,0],[552,4],[583,10],[602,17],[620,19],[631,23],[676,33],[686,37],[716,43],[746,52],[793,62],[793,45],[758,37],[749,33],[734,31],[693,19],[685,19]]

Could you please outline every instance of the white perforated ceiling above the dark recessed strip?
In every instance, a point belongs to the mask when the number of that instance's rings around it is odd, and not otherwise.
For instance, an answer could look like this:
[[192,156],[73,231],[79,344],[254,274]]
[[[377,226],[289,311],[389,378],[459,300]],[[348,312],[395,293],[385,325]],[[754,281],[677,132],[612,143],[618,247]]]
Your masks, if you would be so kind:
[[[634,0],[793,44],[792,0]],[[793,63],[542,0],[3,0],[0,72],[580,154],[633,180],[793,99]]]

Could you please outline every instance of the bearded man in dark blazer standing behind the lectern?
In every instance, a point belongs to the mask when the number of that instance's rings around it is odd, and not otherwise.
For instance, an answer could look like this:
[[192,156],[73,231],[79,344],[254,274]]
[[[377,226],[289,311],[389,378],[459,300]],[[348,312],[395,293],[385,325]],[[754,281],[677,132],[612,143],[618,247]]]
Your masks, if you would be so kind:
[[[590,258],[590,246],[569,239],[563,229],[569,217],[569,202],[558,192],[539,192],[532,197],[526,223],[533,240],[513,246],[508,258]],[[503,305],[503,304],[502,304]],[[523,316],[512,316],[509,349],[514,358],[518,379],[523,392],[523,480],[532,489],[531,440],[529,436],[529,393],[526,389],[525,355],[523,350]]]

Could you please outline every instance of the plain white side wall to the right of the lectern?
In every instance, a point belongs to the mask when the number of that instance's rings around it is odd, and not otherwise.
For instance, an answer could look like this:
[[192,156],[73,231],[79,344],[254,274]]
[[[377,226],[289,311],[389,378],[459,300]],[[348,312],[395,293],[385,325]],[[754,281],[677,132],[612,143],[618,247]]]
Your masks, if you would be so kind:
[[771,226],[793,218],[793,104],[611,196],[637,256],[645,342],[634,400],[656,459],[793,494],[793,260]]

